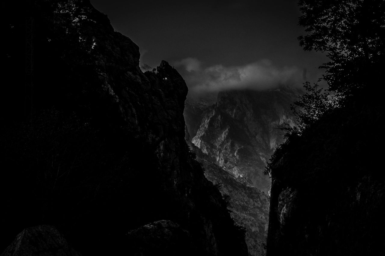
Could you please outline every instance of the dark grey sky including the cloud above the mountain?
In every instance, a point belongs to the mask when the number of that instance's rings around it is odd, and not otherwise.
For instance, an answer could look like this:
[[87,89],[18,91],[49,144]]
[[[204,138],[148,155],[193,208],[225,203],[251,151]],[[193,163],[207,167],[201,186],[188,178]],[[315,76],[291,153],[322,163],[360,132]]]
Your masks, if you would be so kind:
[[139,45],[141,64],[168,61],[190,91],[301,86],[327,61],[298,45],[297,0],[91,2]]

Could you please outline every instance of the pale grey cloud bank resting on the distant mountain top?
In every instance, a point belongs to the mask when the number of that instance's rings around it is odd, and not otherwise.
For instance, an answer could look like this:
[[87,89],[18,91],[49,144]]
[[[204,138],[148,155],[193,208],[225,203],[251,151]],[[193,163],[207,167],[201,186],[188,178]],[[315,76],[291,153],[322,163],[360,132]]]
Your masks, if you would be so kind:
[[232,89],[266,90],[279,86],[301,87],[303,71],[295,66],[276,67],[268,59],[242,66],[221,64],[203,67],[195,58],[173,63],[186,80],[192,93],[226,91]]

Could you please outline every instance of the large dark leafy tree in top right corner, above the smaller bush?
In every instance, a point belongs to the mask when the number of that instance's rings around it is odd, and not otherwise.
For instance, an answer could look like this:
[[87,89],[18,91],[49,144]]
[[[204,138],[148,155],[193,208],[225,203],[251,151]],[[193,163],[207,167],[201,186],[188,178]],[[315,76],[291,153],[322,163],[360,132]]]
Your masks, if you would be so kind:
[[384,0],[300,0],[298,37],[305,51],[326,52],[324,79],[329,90],[350,96],[373,87],[383,69]]

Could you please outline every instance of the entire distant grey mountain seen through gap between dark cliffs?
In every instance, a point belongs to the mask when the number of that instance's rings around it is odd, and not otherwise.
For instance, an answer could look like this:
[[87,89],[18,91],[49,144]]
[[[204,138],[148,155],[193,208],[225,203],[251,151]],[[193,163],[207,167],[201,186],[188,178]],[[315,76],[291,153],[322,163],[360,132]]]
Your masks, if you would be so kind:
[[[186,101],[186,141],[246,229],[249,255],[265,255],[270,189],[263,174],[299,91],[227,91]],[[254,181],[254,182],[253,182]]]

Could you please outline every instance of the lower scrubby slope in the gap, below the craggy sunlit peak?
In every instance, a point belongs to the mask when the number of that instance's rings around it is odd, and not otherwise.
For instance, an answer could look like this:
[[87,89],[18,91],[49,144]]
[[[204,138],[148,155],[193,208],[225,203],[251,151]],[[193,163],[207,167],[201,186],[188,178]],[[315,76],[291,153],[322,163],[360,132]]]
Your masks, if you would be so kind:
[[269,220],[268,195],[251,184],[236,179],[208,160],[199,161],[203,163],[204,175],[214,184],[218,184],[222,195],[228,200],[231,216],[245,227],[249,255],[264,256]]

